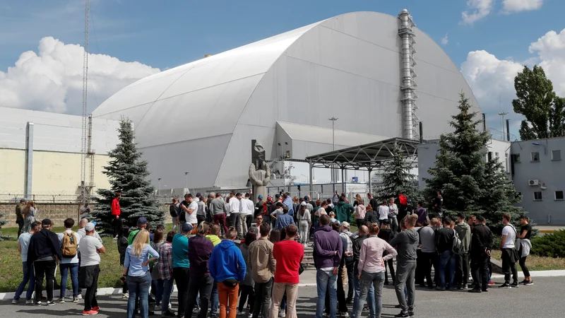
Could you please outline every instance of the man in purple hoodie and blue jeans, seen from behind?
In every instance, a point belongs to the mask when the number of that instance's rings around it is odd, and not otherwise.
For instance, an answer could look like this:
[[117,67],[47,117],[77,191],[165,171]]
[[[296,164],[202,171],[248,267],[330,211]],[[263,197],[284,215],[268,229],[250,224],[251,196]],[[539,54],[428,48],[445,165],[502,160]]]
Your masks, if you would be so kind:
[[343,242],[338,232],[329,226],[330,217],[320,217],[320,227],[314,233],[314,265],[316,266],[316,318],[322,318],[326,305],[326,290],[330,294],[330,317],[335,318],[338,307],[338,269],[341,262]]

